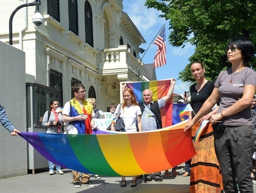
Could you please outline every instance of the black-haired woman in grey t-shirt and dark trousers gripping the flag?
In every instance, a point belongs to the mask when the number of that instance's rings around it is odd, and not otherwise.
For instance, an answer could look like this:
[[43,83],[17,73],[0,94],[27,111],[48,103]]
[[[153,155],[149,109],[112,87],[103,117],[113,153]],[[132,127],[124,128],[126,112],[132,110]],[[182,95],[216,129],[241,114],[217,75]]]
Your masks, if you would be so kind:
[[215,124],[214,147],[224,190],[227,193],[238,192],[238,183],[243,192],[253,192],[251,165],[254,135],[249,105],[256,90],[256,73],[246,65],[253,58],[255,50],[247,38],[236,37],[227,44],[226,51],[232,67],[219,73],[211,96],[185,125],[184,131],[209,112],[220,98],[219,109],[211,115],[210,122]]

